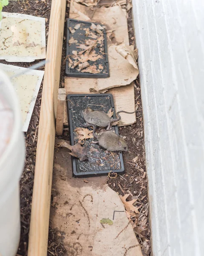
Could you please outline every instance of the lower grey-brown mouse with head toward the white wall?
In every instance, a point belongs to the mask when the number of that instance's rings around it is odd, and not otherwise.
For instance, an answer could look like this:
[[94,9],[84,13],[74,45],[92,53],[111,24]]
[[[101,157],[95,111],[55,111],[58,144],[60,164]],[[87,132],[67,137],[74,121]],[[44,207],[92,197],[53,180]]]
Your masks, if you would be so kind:
[[98,140],[98,144],[108,151],[128,151],[126,141],[115,134],[113,131],[103,131],[98,135],[95,134],[95,125],[83,125],[79,120],[78,122],[83,127],[93,127],[93,136]]

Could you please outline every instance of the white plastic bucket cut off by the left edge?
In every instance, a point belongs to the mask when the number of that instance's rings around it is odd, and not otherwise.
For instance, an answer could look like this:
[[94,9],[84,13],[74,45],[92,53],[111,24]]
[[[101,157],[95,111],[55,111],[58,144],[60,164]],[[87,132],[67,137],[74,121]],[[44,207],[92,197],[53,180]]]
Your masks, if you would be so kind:
[[[17,95],[9,77],[2,70],[0,96],[12,112],[9,140],[0,154],[0,256],[15,256],[20,240],[19,179],[24,165],[25,142]],[[0,120],[2,122],[4,120]],[[0,143],[3,143],[2,138]]]

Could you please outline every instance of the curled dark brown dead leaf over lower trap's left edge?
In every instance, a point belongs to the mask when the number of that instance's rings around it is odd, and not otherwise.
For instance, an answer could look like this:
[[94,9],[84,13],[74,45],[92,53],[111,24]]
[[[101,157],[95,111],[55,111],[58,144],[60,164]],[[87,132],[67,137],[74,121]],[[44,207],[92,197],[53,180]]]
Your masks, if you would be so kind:
[[69,152],[69,154],[71,154],[73,157],[79,158],[80,162],[88,159],[88,149],[86,146],[82,147],[79,141],[77,144],[71,146],[65,140],[62,140],[59,143],[57,143],[57,147],[69,148],[69,150],[72,151],[71,153]]

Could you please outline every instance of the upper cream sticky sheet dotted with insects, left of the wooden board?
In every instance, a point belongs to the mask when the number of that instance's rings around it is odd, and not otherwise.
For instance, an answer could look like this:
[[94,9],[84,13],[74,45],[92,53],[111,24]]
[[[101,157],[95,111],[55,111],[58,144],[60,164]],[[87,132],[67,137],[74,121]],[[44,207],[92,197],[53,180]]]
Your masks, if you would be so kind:
[[2,12],[0,60],[32,62],[46,58],[45,18]]

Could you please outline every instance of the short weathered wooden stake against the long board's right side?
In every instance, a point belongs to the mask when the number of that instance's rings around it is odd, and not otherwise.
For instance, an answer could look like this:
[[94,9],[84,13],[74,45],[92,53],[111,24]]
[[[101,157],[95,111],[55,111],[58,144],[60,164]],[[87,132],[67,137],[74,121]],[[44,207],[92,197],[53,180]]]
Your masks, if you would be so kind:
[[66,104],[66,89],[60,88],[58,90],[57,116],[56,116],[56,134],[58,136],[61,136],[63,133],[65,104]]

